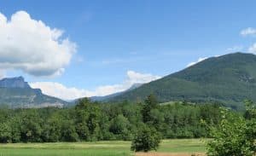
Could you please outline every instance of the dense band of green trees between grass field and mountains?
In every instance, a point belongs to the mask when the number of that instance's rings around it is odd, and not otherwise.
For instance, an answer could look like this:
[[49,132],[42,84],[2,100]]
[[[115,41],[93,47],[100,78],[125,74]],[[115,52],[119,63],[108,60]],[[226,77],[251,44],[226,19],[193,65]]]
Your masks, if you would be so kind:
[[218,124],[219,106],[160,105],[154,95],[144,103],[102,104],[85,98],[71,108],[1,108],[0,142],[129,141],[143,124],[162,138],[197,138],[209,135],[202,119]]

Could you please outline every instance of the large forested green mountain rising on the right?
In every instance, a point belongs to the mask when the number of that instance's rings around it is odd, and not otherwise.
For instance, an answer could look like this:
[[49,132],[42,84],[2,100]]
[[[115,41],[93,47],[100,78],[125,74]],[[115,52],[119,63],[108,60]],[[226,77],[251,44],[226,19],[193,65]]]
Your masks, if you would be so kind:
[[108,101],[143,101],[151,93],[160,102],[215,101],[239,108],[245,99],[256,101],[256,55],[211,57]]

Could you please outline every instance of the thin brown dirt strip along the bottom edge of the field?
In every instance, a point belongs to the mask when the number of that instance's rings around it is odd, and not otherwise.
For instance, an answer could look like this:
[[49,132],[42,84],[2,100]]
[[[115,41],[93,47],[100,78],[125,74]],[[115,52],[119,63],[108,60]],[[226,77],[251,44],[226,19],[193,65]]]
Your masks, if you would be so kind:
[[136,153],[136,156],[206,156],[204,153]]

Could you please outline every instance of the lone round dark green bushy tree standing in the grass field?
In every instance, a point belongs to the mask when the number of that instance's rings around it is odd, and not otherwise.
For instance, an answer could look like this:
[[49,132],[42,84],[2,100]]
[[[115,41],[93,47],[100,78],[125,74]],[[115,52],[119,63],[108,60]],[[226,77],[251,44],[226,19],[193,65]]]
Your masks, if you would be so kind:
[[148,127],[148,125],[143,124],[131,142],[131,150],[148,152],[150,150],[157,150],[159,144],[160,134],[154,127]]

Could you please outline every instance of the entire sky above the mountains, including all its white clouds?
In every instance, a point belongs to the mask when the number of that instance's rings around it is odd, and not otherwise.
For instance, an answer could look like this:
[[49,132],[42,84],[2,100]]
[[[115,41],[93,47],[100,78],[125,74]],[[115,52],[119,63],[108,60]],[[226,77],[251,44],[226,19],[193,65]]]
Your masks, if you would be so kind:
[[256,53],[256,1],[0,0],[0,77],[64,100]]

